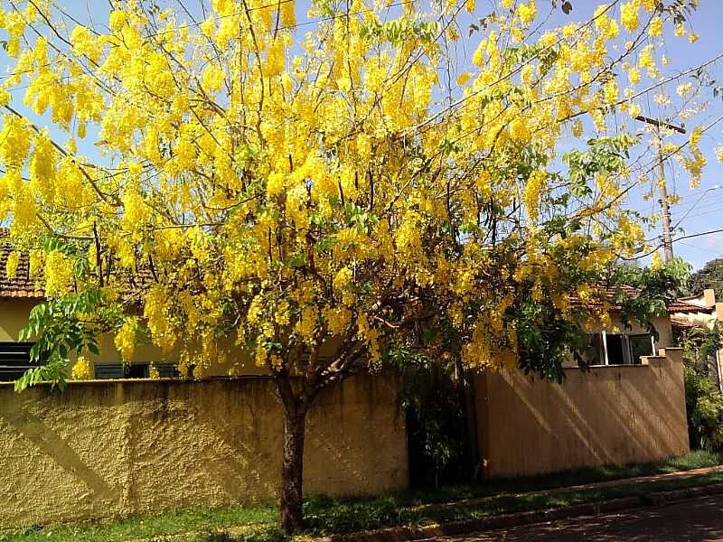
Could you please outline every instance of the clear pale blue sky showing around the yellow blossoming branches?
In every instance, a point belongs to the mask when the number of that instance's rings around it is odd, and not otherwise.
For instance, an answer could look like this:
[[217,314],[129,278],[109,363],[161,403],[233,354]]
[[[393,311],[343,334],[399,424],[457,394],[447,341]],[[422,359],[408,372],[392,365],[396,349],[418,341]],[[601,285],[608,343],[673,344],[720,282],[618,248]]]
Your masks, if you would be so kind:
[[[57,0],[70,14],[82,22],[92,20],[94,23],[104,23],[107,21],[108,3],[100,0]],[[169,0],[169,5],[174,5],[174,0]],[[197,2],[190,0],[187,5],[197,5]],[[478,14],[484,14],[489,11],[489,2],[487,0],[477,0]],[[540,17],[549,13],[549,0],[538,0]],[[558,1],[558,5],[561,2]],[[574,9],[572,14],[566,15],[557,9],[553,12],[549,25],[562,25],[571,22],[584,21],[590,17],[596,5],[600,2],[593,0],[573,0]],[[299,20],[302,20],[302,14],[305,12],[306,2],[300,0],[297,5],[296,12]],[[196,10],[194,10],[196,11]],[[185,17],[181,14],[178,7],[179,18]],[[698,11],[692,15],[689,28],[695,33],[700,34],[700,40],[695,43],[689,43],[685,38],[676,38],[672,35],[666,35],[666,56],[671,58],[671,64],[664,69],[664,73],[671,74],[686,70],[691,66],[700,64],[709,58],[723,53],[723,39],[720,36],[720,25],[723,23],[723,0],[701,0]],[[463,37],[461,43],[461,52],[470,58],[478,40],[479,34],[467,41],[466,36]],[[464,62],[464,61],[463,61]],[[6,65],[6,58],[3,55],[0,58],[0,69]],[[711,70],[711,74],[718,79],[718,85],[723,86],[723,62],[719,62]],[[675,85],[672,83],[670,87],[664,90],[667,93],[675,94]],[[15,94],[15,103],[22,103],[22,91]],[[710,104],[707,111],[688,121],[687,126],[692,127],[697,124],[705,124],[709,119],[723,115],[723,99],[712,98],[709,95]],[[662,117],[664,113],[659,110],[653,101],[653,96],[649,100],[643,100],[643,115],[647,117]],[[32,116],[31,116],[32,117]],[[39,119],[36,119],[39,120]],[[40,120],[40,124],[45,124]],[[697,234],[714,229],[723,229],[723,164],[720,164],[713,152],[717,145],[723,145],[723,123],[710,130],[703,136],[701,150],[708,157],[708,165],[703,173],[700,186],[696,189],[690,189],[689,178],[681,167],[677,164],[667,164],[665,171],[668,178],[668,190],[671,194],[680,196],[680,203],[672,206],[671,215],[672,223],[678,225],[679,230],[674,233],[674,237],[682,237],[690,234]],[[677,143],[685,141],[684,135],[675,136],[671,140]],[[566,147],[579,147],[580,142],[568,140],[562,142],[561,150],[564,152]],[[96,149],[92,145],[92,141],[83,144],[80,143],[80,152],[93,156]],[[671,162],[671,161],[669,161]],[[718,188],[718,186],[720,188]],[[656,201],[644,201],[643,192],[649,190],[649,186],[644,190],[635,191],[628,205],[636,210],[640,210],[643,214],[649,215],[651,212],[659,212]],[[649,233],[649,238],[655,238],[660,235],[660,231],[653,230]],[[723,232],[718,234],[704,235],[694,238],[684,238],[675,241],[674,252],[676,256],[680,256],[688,260],[691,266],[699,268],[706,261],[714,257],[723,256]]]

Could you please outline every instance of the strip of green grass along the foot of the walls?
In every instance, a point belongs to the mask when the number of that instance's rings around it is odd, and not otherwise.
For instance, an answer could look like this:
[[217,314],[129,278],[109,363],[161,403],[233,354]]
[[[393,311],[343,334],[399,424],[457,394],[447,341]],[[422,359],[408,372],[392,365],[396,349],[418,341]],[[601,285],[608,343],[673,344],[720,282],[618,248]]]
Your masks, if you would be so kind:
[[[305,501],[305,536],[319,537],[395,525],[427,525],[481,519],[515,511],[548,509],[595,500],[643,495],[723,483],[723,472],[687,479],[646,481],[606,488],[570,490],[572,485],[687,471],[723,463],[723,454],[691,452],[658,463],[606,466],[510,480],[487,480],[440,491],[405,491],[376,498]],[[545,491],[531,493],[531,491]],[[455,506],[449,501],[470,500]],[[481,500],[480,500],[481,499]],[[0,535],[0,542],[281,542],[273,505],[253,508],[183,509],[108,522],[28,528]]]

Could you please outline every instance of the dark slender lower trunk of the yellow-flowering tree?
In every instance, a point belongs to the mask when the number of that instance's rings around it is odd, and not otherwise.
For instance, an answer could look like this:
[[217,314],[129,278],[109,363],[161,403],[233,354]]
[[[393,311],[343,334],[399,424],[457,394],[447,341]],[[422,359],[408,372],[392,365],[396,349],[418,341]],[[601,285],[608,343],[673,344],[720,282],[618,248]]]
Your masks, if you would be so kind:
[[281,465],[281,528],[287,535],[298,532],[304,523],[303,477],[306,412],[298,409],[284,419],[284,458]]

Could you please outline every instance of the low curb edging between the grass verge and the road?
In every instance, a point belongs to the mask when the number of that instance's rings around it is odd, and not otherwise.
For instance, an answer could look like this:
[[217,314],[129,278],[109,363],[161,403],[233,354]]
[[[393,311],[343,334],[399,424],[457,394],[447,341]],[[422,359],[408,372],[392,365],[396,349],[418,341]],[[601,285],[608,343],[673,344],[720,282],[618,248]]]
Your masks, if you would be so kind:
[[671,502],[697,499],[699,497],[718,495],[720,493],[723,493],[723,483],[684,488],[681,490],[652,491],[633,497],[600,500],[557,509],[541,509],[531,510],[529,512],[501,514],[490,518],[469,519],[444,524],[426,525],[424,527],[381,528],[373,531],[353,533],[351,535],[333,535],[331,537],[317,538],[317,542],[401,542],[405,540],[420,540],[422,538],[448,537],[498,528],[522,527],[557,519],[596,516],[598,514],[607,514],[621,510],[664,506]]

